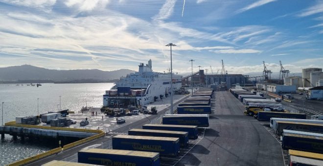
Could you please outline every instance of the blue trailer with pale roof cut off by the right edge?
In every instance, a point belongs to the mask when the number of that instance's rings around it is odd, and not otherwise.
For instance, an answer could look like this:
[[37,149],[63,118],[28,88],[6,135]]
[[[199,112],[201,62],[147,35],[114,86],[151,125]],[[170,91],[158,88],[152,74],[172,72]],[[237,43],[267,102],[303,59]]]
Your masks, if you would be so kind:
[[323,153],[323,134],[294,130],[283,130],[283,149]]

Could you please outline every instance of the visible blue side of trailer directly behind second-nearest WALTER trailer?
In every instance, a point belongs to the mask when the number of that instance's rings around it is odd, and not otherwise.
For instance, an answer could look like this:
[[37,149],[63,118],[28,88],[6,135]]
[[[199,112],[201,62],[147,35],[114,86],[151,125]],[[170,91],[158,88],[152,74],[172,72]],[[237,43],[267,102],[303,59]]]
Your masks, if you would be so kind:
[[128,135],[138,136],[151,136],[151,137],[173,137],[180,139],[180,145],[185,147],[188,145],[188,133],[186,134],[175,134],[175,133],[160,133],[160,132],[146,132],[146,131],[135,131],[129,130]]

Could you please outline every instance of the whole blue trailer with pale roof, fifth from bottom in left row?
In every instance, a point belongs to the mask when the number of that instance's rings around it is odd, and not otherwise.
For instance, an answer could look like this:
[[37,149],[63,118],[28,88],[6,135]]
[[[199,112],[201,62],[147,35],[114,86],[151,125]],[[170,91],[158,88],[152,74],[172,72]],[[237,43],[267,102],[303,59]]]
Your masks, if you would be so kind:
[[165,114],[162,117],[164,125],[197,125],[208,127],[208,114]]

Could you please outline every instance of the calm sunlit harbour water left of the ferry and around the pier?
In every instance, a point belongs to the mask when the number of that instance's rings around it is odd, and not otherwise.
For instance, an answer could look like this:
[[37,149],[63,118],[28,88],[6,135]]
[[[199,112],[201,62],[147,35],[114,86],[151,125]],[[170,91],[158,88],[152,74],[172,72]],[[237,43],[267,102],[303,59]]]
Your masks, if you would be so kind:
[[[87,103],[88,106],[101,107],[102,95],[110,89],[113,83],[78,83],[54,84],[44,83],[42,86],[0,86],[0,104],[3,103],[3,124],[15,121],[18,116],[37,115],[37,98],[39,114],[62,109],[79,111]],[[61,105],[60,97],[61,96]],[[1,113],[2,113],[2,105]],[[2,117],[0,114],[1,123]],[[1,124],[0,124],[1,125]],[[40,144],[34,140],[13,141],[5,135],[0,142],[0,165],[12,163],[49,149],[53,145]]]

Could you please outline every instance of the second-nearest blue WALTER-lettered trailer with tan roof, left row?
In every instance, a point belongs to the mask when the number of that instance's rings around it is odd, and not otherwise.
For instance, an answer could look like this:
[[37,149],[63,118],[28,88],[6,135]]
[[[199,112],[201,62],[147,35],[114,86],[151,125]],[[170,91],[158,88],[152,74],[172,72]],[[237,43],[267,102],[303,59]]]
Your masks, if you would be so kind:
[[180,154],[180,139],[173,137],[116,135],[112,137],[112,148],[157,152],[165,156],[178,156]]

